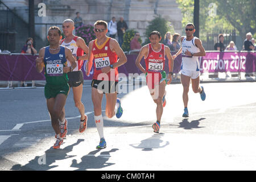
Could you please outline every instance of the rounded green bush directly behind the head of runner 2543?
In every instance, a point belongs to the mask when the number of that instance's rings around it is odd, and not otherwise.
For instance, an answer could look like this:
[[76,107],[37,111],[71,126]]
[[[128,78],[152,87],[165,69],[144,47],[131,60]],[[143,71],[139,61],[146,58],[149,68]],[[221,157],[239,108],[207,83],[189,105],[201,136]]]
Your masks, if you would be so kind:
[[168,22],[166,19],[162,18],[162,16],[160,15],[155,16],[155,18],[149,22],[146,28],[146,32],[144,34],[144,36],[146,37],[146,40],[143,43],[143,45],[150,43],[150,40],[148,39],[148,37],[152,31],[160,32],[162,36],[162,40],[160,41],[161,43],[163,43],[164,41],[164,35],[166,34],[166,32],[170,31],[171,34],[175,33],[174,27],[172,27],[171,22]]

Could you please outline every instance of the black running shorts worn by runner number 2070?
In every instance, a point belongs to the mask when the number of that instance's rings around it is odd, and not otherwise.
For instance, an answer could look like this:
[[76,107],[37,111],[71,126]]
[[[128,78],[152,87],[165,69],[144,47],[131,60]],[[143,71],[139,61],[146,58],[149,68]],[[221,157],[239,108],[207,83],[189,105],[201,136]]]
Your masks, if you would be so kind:
[[91,86],[103,93],[118,93],[118,81],[92,80]]

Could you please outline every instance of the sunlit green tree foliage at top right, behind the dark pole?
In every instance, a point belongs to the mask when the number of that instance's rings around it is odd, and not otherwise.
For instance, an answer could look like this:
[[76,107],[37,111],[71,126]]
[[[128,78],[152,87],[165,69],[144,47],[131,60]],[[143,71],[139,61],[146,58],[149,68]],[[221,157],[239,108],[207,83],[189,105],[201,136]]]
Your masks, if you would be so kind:
[[[194,0],[176,0],[183,14],[182,24],[193,23]],[[210,16],[213,7],[216,5],[216,16]],[[247,32],[256,33],[256,7],[255,0],[205,0],[200,1],[200,38],[205,37],[207,32],[212,30],[234,29],[245,38]],[[201,38],[204,39],[204,38]]]

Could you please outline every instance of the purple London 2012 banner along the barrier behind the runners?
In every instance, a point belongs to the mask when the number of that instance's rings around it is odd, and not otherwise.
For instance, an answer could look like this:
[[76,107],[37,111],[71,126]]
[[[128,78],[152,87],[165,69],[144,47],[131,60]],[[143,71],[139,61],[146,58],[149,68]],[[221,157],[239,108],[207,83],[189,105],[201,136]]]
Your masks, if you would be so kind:
[[[172,52],[172,54],[174,54]],[[141,74],[135,65],[137,55],[126,55],[127,63],[118,68],[119,76],[129,76],[130,74]],[[35,59],[32,55],[6,55],[0,54],[0,80],[1,81],[26,81],[45,80],[44,71],[36,72]],[[179,73],[182,57],[177,56],[174,60],[174,73]],[[82,66],[84,80],[92,80],[93,69],[90,75],[85,75],[85,63]],[[141,61],[145,67],[144,61]],[[200,71],[203,72],[255,72],[256,52],[207,52],[204,57],[199,57]],[[166,59],[164,71],[169,72],[168,59]]]

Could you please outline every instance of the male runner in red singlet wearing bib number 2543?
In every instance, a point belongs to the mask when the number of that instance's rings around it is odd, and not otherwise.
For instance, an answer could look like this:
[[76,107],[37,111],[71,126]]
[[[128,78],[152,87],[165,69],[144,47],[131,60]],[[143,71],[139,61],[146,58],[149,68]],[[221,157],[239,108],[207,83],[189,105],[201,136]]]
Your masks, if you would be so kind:
[[[170,48],[159,43],[162,38],[158,31],[152,31],[149,39],[150,44],[141,48],[136,59],[136,65],[143,73],[146,73],[147,86],[156,104],[156,122],[152,125],[152,128],[155,133],[159,133],[163,107],[166,105],[166,84],[170,84],[172,81],[174,60],[172,59]],[[168,79],[164,71],[165,56],[167,56],[169,65]],[[141,65],[142,57],[144,57],[146,69]]]

